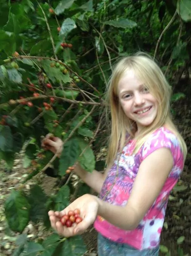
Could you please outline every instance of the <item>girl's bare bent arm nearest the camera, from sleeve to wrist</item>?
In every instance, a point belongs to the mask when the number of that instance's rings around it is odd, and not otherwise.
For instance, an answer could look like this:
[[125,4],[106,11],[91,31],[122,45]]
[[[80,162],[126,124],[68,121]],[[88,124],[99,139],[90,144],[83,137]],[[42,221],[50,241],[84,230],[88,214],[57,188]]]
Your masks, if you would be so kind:
[[121,229],[135,229],[160,191],[173,167],[170,150],[160,148],[141,163],[125,206],[111,205],[97,198],[98,215]]

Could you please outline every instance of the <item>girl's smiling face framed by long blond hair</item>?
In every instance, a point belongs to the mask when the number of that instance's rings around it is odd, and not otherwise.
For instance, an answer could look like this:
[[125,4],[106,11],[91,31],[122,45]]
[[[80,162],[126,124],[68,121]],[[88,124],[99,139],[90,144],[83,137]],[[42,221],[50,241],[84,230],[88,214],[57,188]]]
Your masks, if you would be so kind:
[[126,116],[136,122],[138,133],[153,123],[157,116],[157,99],[139,81],[133,70],[127,70],[120,78],[118,97]]

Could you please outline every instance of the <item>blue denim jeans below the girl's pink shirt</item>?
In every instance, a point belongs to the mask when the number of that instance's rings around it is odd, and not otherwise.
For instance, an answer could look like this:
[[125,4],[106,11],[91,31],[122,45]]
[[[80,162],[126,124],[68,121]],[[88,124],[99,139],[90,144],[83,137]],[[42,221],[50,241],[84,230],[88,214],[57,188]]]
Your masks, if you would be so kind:
[[97,238],[98,256],[158,256],[159,246],[154,249],[139,251],[127,244],[115,243],[101,234]]

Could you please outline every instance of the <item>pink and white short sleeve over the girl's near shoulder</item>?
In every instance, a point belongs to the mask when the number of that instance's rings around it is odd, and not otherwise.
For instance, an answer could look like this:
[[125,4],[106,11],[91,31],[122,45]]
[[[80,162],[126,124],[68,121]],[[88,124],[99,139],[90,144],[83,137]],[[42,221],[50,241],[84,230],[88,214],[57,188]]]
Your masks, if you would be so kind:
[[167,148],[170,150],[174,161],[181,156],[181,147],[176,135],[165,127],[160,127],[155,130],[141,148],[141,155],[144,159],[146,156],[159,148]]

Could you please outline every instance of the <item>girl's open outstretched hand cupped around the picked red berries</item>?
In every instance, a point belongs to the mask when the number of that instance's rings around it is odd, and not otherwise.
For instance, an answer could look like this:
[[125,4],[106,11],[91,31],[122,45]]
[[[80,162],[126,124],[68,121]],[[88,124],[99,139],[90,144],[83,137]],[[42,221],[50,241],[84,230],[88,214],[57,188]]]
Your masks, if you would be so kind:
[[[58,234],[64,237],[83,234],[86,229],[94,223],[97,217],[98,207],[99,203],[97,197],[85,194],[77,198],[61,212],[54,212],[50,210],[48,215],[51,226]],[[82,221],[79,224],[74,223],[71,227],[63,226],[60,222],[60,218],[63,215],[68,214],[69,210],[74,210],[76,208],[80,210]]]

